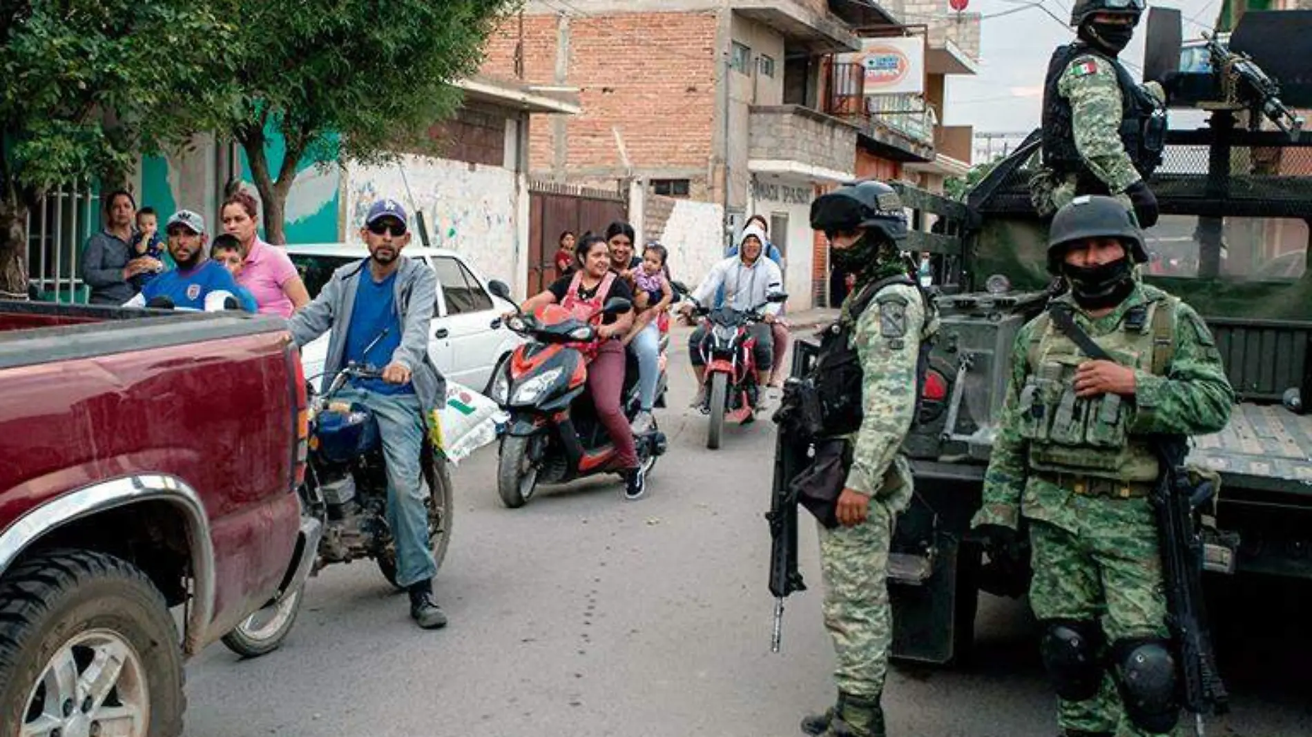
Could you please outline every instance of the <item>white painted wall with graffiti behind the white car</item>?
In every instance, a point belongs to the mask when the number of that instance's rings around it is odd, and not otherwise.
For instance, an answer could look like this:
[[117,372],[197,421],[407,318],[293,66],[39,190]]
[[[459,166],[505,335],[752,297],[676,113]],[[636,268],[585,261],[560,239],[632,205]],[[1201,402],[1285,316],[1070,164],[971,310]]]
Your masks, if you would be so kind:
[[[409,191],[415,195],[413,203],[396,164],[349,165],[348,240],[357,237],[354,233],[363,223],[369,206],[375,199],[391,197],[407,209],[424,211],[430,245],[459,252],[484,278],[501,279],[522,294],[526,271],[518,243],[520,231],[527,224],[517,197],[520,177],[501,167],[426,156],[404,156],[401,165]],[[413,212],[411,226],[416,226]],[[419,243],[417,232],[412,243]]]

